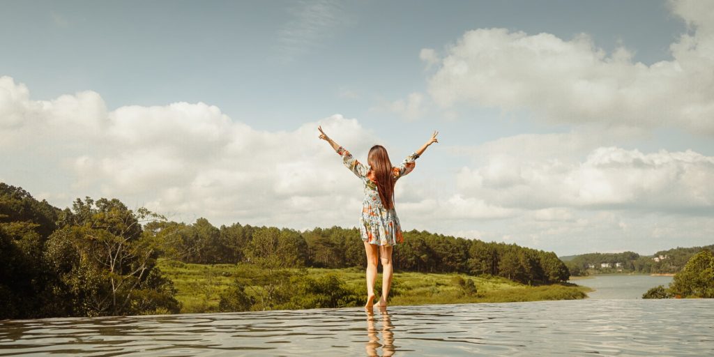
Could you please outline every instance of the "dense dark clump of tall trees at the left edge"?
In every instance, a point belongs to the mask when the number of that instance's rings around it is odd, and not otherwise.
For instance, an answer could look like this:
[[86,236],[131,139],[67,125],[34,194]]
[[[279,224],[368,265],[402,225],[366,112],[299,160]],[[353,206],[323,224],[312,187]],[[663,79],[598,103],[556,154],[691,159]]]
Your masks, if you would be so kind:
[[106,198],[60,211],[0,183],[0,318],[177,312],[145,218]]

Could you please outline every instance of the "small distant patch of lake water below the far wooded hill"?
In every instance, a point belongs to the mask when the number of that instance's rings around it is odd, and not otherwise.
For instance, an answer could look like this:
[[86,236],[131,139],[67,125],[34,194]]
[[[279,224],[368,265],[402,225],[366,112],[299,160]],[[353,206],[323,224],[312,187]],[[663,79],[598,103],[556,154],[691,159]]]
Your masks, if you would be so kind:
[[596,275],[593,278],[570,281],[578,285],[594,288],[588,293],[590,298],[596,299],[631,299],[642,298],[650,288],[658,285],[667,287],[672,282],[673,276],[649,275]]

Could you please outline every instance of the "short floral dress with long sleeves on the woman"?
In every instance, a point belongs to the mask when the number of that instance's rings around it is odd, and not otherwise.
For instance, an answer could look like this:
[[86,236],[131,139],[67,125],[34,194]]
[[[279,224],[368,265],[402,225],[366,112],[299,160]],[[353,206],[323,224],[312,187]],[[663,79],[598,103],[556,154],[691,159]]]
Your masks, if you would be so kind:
[[[397,243],[403,243],[404,237],[396,211],[394,208],[384,208],[382,200],[379,198],[377,183],[367,177],[370,167],[361,164],[342,146],[337,149],[337,154],[342,156],[342,161],[347,169],[361,178],[364,184],[362,214],[359,218],[359,231],[362,240],[378,246],[394,246]],[[398,179],[409,174],[416,166],[414,161],[418,157],[418,154],[413,152],[399,166],[393,167],[394,178]]]

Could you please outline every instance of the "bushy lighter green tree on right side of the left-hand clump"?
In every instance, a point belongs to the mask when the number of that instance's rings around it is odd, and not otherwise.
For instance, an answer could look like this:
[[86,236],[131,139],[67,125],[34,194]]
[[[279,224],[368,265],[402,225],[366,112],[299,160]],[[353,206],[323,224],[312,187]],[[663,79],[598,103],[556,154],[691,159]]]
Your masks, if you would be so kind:
[[141,228],[153,219],[164,218],[116,199],[77,199],[44,253],[65,301],[56,308],[71,316],[178,312],[173,284],[156,267],[154,236]]

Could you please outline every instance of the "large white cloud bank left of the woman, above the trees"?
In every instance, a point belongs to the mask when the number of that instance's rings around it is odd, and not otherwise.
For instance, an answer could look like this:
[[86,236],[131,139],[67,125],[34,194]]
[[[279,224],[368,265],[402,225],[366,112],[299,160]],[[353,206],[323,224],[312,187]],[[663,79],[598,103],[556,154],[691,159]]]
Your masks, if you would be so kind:
[[206,216],[214,223],[353,226],[359,181],[318,139],[317,126],[357,157],[378,141],[358,121],[339,115],[271,132],[233,121],[203,103],[108,112],[91,91],[33,101],[26,86],[9,77],[0,78],[0,114],[4,154],[31,163],[29,171],[6,166],[10,175],[4,178],[27,177],[21,175],[26,171],[36,180],[45,170],[36,162],[42,158],[66,163],[52,176],[69,181],[69,187],[43,190],[49,198],[63,198],[52,203],[109,196],[179,219]]

